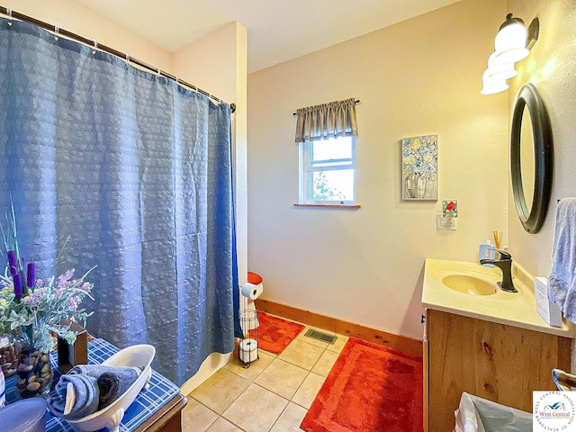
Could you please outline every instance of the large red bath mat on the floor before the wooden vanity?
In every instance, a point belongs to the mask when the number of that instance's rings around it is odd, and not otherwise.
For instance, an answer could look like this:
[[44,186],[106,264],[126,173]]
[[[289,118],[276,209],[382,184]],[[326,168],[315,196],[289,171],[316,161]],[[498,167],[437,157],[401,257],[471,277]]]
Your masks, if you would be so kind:
[[308,432],[421,432],[422,357],[350,338],[300,427]]

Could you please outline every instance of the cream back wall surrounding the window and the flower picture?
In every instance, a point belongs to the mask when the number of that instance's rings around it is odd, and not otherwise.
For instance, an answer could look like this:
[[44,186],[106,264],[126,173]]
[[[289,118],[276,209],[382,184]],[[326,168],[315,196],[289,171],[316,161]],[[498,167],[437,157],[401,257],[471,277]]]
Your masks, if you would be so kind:
[[[421,338],[426,257],[508,221],[506,94],[480,94],[505,0],[465,0],[248,76],[248,263],[264,298]],[[356,97],[358,211],[294,208],[297,108]],[[440,199],[401,202],[400,140],[438,134]],[[458,200],[456,231],[436,229]]]

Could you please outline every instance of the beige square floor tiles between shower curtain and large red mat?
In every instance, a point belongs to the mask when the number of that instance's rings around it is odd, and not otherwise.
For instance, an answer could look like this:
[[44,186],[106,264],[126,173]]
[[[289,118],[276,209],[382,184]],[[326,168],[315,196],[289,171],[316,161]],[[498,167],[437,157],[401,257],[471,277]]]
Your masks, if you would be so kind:
[[308,329],[279,356],[259,349],[260,358],[247,369],[232,359],[213,374],[188,395],[183,431],[301,431],[302,419],[348,340],[336,335],[329,345],[305,337]]

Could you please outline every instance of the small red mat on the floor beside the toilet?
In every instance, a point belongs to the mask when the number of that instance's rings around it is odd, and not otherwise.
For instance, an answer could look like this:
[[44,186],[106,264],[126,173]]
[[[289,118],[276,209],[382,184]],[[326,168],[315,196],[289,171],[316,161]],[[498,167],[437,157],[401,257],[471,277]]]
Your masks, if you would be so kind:
[[[258,322],[258,347],[273,354],[282,353],[304,329],[302,324],[276,318],[261,311],[258,311]],[[253,330],[250,330],[250,337],[254,337]]]

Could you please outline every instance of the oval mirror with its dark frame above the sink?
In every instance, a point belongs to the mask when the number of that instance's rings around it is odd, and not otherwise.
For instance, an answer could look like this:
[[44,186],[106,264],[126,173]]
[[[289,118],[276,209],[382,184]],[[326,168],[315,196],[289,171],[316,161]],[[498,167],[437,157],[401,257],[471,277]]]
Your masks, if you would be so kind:
[[510,167],[514,205],[522,226],[535,234],[544,223],[552,187],[550,121],[536,87],[522,87],[512,115]]

